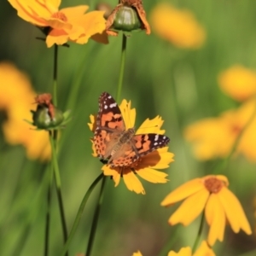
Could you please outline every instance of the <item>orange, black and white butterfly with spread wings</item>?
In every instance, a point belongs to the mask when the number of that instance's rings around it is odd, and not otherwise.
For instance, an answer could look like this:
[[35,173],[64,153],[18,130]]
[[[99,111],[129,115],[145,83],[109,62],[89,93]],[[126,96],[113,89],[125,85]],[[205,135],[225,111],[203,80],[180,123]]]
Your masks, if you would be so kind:
[[132,166],[144,155],[163,148],[170,139],[156,133],[136,134],[134,128],[125,129],[120,108],[108,92],[99,97],[99,111],[93,142],[97,156],[111,167]]

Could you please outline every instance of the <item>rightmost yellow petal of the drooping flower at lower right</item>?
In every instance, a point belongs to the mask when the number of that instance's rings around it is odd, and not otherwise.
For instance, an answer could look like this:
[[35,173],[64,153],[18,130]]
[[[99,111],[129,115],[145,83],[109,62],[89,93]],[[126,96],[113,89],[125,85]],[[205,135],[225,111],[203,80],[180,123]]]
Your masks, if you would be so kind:
[[247,217],[241,207],[240,201],[236,198],[229,189],[223,188],[218,193],[218,199],[221,201],[224,207],[224,212],[232,230],[237,233],[239,230],[244,230],[247,235],[252,234],[250,224],[247,221]]

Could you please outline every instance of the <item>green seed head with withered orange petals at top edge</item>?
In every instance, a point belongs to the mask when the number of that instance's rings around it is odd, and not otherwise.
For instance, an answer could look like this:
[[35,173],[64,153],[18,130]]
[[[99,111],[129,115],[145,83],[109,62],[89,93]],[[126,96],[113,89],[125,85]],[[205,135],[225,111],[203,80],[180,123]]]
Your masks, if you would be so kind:
[[119,4],[108,16],[106,31],[117,36],[118,31],[131,32],[143,29],[150,34],[150,26],[143,9],[143,0],[119,0]]

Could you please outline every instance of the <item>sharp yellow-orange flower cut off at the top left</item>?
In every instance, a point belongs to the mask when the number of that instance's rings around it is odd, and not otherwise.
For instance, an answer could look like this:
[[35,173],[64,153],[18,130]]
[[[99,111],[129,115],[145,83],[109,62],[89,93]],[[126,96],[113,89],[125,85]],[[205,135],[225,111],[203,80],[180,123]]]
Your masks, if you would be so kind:
[[61,0],[9,0],[9,3],[21,19],[49,28],[46,37],[48,47],[65,44],[68,40],[86,44],[91,36],[105,30],[104,12],[92,11],[84,15],[89,8],[87,5],[59,10]]

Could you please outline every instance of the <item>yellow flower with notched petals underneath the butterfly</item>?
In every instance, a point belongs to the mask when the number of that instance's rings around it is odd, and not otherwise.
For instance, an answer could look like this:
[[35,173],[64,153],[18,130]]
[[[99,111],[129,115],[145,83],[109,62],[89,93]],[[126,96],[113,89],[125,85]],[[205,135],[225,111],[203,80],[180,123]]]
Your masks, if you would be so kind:
[[[136,110],[131,108],[131,102],[123,102],[119,105],[122,117],[125,122],[126,130],[134,127]],[[90,115],[90,130],[96,129],[96,116]],[[161,130],[160,127],[163,124],[163,120],[157,116],[154,119],[146,119],[138,129],[136,134],[157,133],[164,134],[165,130]],[[146,146],[147,147],[147,146]],[[97,156],[95,150],[95,144],[92,144],[93,156]],[[127,189],[135,191],[137,194],[145,194],[142,183],[137,176],[142,177],[150,183],[166,183],[167,174],[165,172],[159,172],[154,169],[166,169],[173,161],[173,154],[168,152],[168,147],[158,148],[153,152],[142,156],[132,166],[118,166],[112,167],[110,165],[102,166],[104,175],[113,177],[115,186],[119,184],[120,178],[124,178]]]

